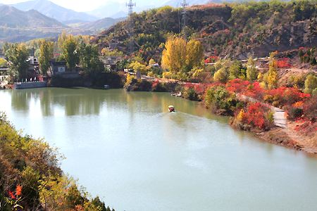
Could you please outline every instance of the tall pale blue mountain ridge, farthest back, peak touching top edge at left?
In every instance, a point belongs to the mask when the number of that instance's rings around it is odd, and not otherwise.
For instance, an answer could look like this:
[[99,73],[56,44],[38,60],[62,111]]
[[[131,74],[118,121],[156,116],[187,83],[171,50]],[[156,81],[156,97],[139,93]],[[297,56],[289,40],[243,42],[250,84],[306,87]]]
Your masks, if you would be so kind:
[[20,2],[18,4],[11,4],[9,6],[14,6],[15,8],[18,8],[20,11],[29,11],[34,9],[48,17],[55,18],[60,22],[76,19],[86,21],[94,21],[98,19],[93,15],[88,15],[87,13],[82,12],[78,13],[68,8],[58,6],[57,4],[54,4],[53,2],[47,0],[25,1]]

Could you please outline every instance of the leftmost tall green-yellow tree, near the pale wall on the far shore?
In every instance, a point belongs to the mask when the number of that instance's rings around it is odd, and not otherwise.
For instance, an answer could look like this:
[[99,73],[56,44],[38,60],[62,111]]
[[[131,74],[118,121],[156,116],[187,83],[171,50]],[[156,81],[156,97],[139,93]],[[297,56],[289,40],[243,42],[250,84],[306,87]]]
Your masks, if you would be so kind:
[[28,68],[26,60],[29,57],[25,44],[13,44],[11,48],[6,51],[6,57],[8,57],[10,63],[9,73],[13,76],[13,79],[25,78]]

